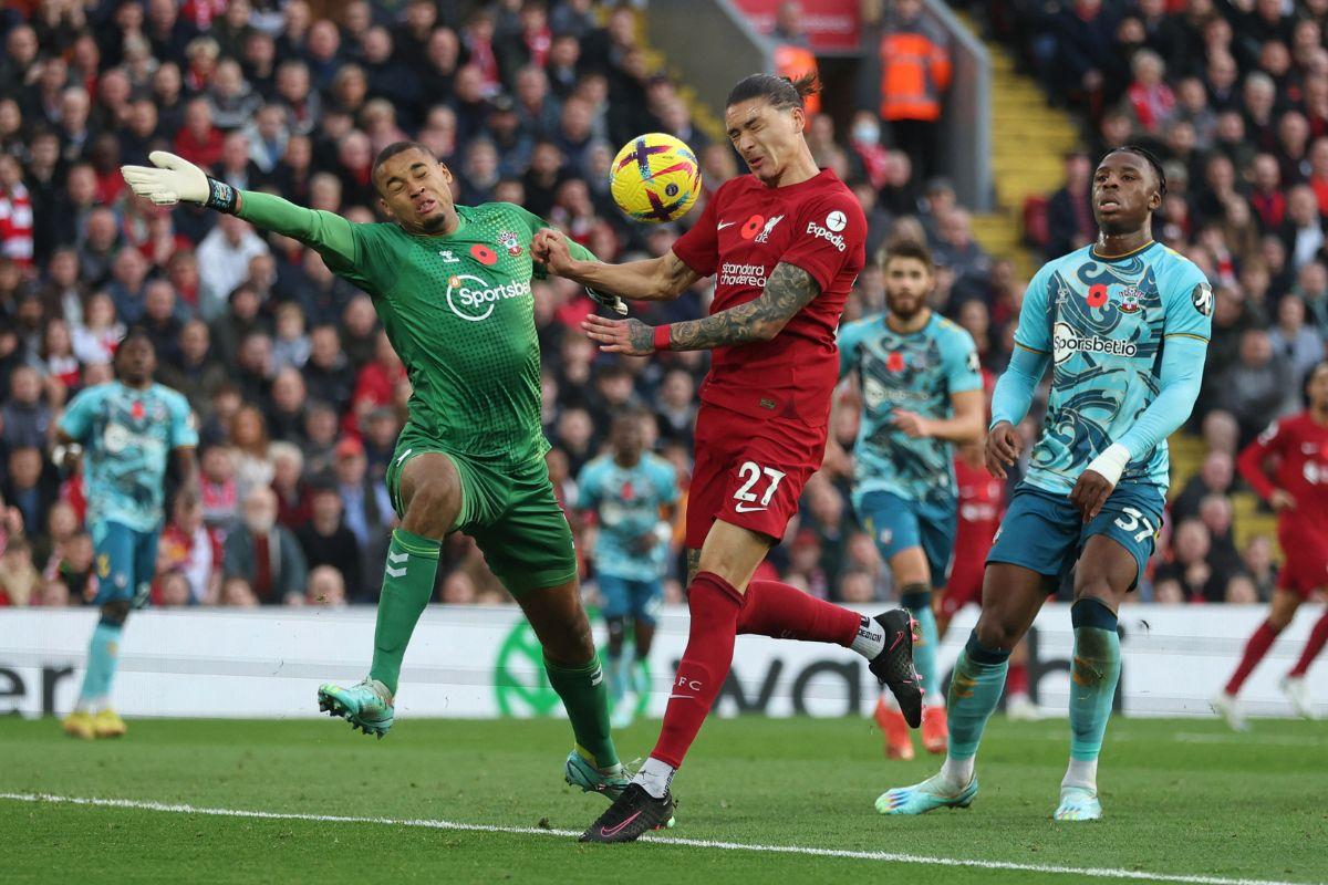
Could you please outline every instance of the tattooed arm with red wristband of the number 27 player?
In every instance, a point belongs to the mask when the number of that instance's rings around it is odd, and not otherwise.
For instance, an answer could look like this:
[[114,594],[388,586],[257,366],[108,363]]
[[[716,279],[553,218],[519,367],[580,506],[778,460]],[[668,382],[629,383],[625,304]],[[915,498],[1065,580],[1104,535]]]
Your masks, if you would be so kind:
[[[704,320],[675,322],[668,326],[668,350],[709,350],[733,344],[770,341],[798,310],[817,297],[821,287],[799,267],[776,264],[765,292],[758,297],[720,310]],[[656,346],[655,326],[640,320],[608,320],[591,314],[582,321],[582,329],[598,341],[604,353],[625,353],[644,357],[664,349]]]

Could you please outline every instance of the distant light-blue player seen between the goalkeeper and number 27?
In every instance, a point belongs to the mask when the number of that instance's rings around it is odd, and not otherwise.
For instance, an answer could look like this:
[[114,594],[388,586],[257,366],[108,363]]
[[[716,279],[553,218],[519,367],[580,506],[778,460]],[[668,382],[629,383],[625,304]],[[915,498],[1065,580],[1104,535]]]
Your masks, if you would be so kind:
[[[677,506],[677,472],[663,458],[643,451],[641,413],[614,419],[610,452],[582,468],[578,510],[595,513],[595,573],[608,622],[608,687],[614,727],[625,728],[649,697],[647,657],[664,601],[663,575]],[[633,628],[633,661],[623,645],[627,620]],[[635,698],[628,694],[635,694]]]

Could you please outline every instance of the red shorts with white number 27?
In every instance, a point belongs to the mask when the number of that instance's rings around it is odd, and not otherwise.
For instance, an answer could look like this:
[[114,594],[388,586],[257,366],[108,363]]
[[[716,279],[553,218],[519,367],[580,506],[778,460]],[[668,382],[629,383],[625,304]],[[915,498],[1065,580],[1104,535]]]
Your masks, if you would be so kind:
[[752,418],[701,403],[687,500],[687,545],[701,549],[714,520],[784,537],[807,478],[821,468],[826,429],[793,418]]

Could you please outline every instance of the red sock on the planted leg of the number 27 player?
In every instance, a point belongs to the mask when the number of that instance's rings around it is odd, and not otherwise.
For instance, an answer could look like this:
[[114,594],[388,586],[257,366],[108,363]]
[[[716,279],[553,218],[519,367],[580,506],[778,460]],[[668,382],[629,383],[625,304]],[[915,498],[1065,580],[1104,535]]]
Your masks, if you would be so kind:
[[687,650],[677,665],[664,726],[652,759],[679,768],[688,747],[696,740],[710,706],[720,697],[720,687],[733,663],[733,640],[738,632],[742,594],[728,581],[710,572],[697,572],[687,590],[687,608],[692,626]]

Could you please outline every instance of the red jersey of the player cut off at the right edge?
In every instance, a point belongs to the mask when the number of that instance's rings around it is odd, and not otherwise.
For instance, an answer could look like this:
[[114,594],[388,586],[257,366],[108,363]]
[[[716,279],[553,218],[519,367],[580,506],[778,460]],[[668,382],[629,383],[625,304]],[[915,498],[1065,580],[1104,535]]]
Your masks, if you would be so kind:
[[[1264,462],[1276,458],[1275,472]],[[1282,535],[1328,533],[1328,427],[1315,423],[1308,411],[1275,421],[1236,460],[1240,475],[1264,500],[1274,488],[1291,492],[1296,506],[1278,516]]]

